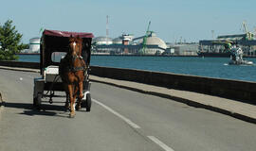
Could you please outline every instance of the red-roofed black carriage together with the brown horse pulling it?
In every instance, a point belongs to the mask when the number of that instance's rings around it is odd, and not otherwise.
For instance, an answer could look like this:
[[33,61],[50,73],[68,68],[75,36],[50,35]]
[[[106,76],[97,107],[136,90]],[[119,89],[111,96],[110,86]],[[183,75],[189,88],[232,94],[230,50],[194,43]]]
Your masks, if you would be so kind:
[[[45,30],[40,44],[40,73],[34,78],[33,105],[41,107],[42,98],[65,96],[65,107],[74,117],[76,109],[91,109],[89,64],[92,33]],[[57,92],[65,92],[58,95]]]

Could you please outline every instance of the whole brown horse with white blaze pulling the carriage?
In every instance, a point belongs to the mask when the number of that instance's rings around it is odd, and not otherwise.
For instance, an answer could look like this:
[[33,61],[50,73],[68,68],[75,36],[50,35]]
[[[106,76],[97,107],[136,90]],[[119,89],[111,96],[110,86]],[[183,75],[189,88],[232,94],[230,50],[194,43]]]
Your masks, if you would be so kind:
[[[64,90],[67,96],[67,102],[65,107],[70,108],[69,117],[75,117],[75,102],[77,94],[78,103],[76,109],[81,109],[82,103],[82,84],[84,80],[84,74],[86,74],[86,65],[82,59],[82,38],[70,37],[68,52],[64,59],[61,60],[59,66],[59,75],[62,77],[64,83]],[[69,102],[70,101],[70,106]]]

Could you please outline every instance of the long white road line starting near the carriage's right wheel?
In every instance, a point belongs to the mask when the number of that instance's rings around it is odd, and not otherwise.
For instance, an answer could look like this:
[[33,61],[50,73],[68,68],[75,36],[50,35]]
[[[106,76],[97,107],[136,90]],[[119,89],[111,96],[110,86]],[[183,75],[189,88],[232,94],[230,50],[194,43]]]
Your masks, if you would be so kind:
[[131,120],[129,120],[128,118],[124,117],[123,115],[119,114],[117,111],[115,111],[114,109],[111,109],[109,107],[107,107],[106,105],[102,104],[101,102],[97,101],[96,99],[92,99],[95,103],[97,103],[98,105],[100,105],[101,107],[103,107],[104,109],[107,109],[108,111],[112,112],[113,114],[117,115],[121,120],[123,120],[124,122],[126,122],[128,125],[134,127],[134,128],[140,128],[140,126],[137,126],[137,124],[133,123]]

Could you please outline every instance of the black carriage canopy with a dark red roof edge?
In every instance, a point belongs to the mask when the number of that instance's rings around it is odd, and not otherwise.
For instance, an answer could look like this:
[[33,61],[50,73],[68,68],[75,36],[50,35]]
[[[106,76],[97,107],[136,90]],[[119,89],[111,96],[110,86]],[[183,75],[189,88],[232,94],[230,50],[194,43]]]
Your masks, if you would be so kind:
[[92,33],[44,30],[40,45],[41,73],[49,65],[59,65],[59,62],[52,60],[52,58],[55,57],[55,54],[68,51],[68,38],[70,36],[82,38],[82,59],[87,65],[90,64],[91,42],[94,37]]

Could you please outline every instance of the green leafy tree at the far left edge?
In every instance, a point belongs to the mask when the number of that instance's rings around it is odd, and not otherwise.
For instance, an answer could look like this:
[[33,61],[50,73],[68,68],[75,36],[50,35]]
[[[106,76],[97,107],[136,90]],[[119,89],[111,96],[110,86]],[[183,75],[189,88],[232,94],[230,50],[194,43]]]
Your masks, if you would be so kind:
[[26,44],[20,43],[22,34],[18,33],[12,21],[8,20],[4,25],[0,25],[0,60],[15,60],[19,53],[26,47]]

